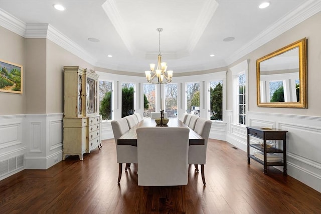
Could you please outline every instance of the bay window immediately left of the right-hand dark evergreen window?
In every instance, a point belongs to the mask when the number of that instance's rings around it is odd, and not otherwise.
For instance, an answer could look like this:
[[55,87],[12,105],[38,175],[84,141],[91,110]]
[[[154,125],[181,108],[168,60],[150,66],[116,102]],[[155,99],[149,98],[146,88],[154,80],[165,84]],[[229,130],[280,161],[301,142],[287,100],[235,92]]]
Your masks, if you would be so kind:
[[187,113],[200,115],[200,83],[186,84]]

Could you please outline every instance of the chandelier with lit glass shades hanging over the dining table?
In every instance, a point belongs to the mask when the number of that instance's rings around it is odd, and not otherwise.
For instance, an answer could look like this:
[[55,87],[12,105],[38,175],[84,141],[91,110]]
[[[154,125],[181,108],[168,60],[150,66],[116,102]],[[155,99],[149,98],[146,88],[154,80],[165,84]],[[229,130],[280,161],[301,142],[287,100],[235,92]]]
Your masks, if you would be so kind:
[[[166,84],[172,82],[173,71],[167,71],[166,62],[162,63],[162,55],[161,55],[161,32],[163,28],[156,29],[159,33],[159,51],[158,51],[158,63],[157,68],[155,70],[155,64],[149,64],[150,71],[145,71],[146,79],[149,83],[152,84]],[[157,80],[154,80],[157,78]]]

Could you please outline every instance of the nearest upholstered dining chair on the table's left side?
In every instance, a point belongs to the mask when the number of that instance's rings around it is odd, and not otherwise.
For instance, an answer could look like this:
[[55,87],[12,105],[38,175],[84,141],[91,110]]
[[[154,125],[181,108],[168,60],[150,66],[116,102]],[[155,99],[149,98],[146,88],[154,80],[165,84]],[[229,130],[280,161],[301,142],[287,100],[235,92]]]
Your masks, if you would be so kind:
[[126,118],[111,121],[111,127],[116,143],[117,163],[118,163],[118,183],[121,179],[122,164],[126,163],[125,171],[130,163],[137,163],[137,147],[130,145],[117,145],[118,138],[129,130]]

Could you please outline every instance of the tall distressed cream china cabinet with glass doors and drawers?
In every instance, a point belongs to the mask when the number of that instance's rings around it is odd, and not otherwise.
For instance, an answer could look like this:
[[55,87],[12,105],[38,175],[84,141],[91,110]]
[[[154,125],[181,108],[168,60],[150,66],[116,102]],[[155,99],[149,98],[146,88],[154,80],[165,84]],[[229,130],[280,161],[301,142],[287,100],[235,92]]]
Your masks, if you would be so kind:
[[65,66],[64,150],[79,155],[101,148],[101,115],[98,111],[98,75],[79,66]]

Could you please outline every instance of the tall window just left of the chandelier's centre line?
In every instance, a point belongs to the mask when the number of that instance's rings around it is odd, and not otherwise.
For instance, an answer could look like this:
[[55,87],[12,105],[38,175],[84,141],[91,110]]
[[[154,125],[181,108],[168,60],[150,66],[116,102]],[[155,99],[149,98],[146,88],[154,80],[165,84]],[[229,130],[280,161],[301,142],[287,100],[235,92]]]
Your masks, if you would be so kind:
[[155,112],[155,85],[144,84],[144,113],[143,117],[150,117],[150,112]]

